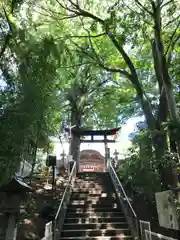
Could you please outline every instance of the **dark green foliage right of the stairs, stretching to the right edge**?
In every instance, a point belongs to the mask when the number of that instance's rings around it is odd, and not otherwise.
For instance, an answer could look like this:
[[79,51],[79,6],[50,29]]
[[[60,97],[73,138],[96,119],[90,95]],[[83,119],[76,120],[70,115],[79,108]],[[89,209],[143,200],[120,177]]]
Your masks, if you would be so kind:
[[[157,161],[147,130],[141,131],[133,140],[127,155],[126,162],[118,169],[118,175],[125,187],[143,195],[148,201],[153,201],[154,194],[162,190],[162,172],[175,169],[179,173],[177,153],[167,150]],[[172,178],[171,175],[169,177]]]

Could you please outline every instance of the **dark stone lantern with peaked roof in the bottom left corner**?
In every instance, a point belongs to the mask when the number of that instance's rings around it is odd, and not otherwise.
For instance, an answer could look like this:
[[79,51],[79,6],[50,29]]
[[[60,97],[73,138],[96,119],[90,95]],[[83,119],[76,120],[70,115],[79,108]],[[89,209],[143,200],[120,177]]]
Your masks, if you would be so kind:
[[20,204],[31,190],[31,187],[17,176],[0,188],[0,239],[16,239]]

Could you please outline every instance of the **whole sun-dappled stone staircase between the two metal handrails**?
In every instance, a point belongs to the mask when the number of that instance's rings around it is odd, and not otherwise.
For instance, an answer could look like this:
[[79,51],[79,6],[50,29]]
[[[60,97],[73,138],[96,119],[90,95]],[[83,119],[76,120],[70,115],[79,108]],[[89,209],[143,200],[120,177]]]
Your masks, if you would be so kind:
[[108,173],[77,173],[60,239],[133,239]]

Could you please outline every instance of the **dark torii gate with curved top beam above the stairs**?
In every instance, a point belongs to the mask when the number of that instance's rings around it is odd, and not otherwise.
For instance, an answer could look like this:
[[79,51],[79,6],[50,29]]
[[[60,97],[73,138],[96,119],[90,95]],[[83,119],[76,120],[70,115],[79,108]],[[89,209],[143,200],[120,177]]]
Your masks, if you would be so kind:
[[[71,134],[72,136],[80,136],[80,143],[104,143],[105,147],[105,171],[107,169],[107,161],[109,158],[109,148],[108,143],[115,143],[115,139],[108,139],[109,136],[115,136],[116,133],[121,128],[112,128],[112,129],[105,129],[105,130],[90,130],[90,129],[83,129],[83,128],[72,128]],[[70,132],[70,129],[66,129]],[[84,139],[84,137],[89,136],[90,139]],[[95,139],[95,137],[102,137],[102,139]]]

